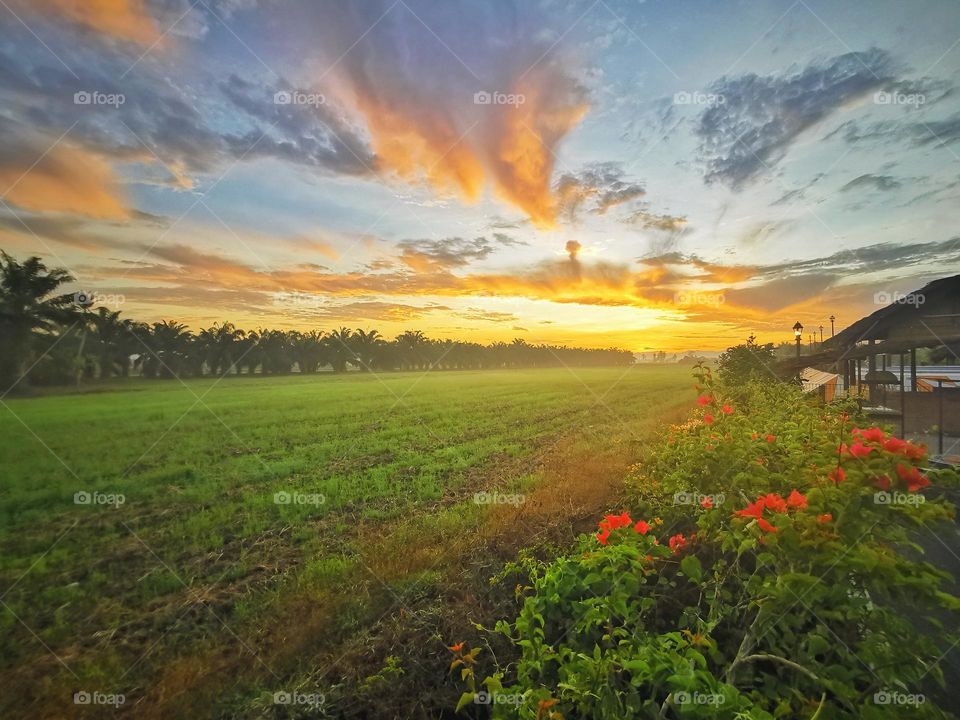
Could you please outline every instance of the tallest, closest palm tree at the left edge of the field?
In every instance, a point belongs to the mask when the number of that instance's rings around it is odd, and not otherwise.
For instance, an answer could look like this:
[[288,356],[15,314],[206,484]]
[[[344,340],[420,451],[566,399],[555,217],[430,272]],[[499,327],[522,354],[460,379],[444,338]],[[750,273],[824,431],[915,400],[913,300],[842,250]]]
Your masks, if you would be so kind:
[[19,382],[32,359],[33,340],[50,335],[58,325],[76,323],[78,306],[72,295],[52,295],[73,280],[62,268],[47,270],[38,257],[23,263],[0,251],[0,392]]

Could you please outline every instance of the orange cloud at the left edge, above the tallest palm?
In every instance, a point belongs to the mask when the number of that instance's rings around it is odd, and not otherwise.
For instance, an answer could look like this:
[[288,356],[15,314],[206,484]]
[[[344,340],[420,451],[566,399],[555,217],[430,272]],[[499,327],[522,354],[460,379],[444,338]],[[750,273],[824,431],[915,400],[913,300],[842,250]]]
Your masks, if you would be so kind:
[[98,219],[129,216],[110,164],[66,143],[49,148],[33,139],[0,149],[0,187],[6,188],[7,202],[27,210]]

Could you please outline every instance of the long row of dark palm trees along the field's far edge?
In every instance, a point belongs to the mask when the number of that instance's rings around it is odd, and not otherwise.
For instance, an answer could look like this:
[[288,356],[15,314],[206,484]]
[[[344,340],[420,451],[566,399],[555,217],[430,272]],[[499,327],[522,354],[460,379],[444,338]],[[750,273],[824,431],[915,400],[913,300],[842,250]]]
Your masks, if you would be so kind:
[[[377,330],[341,327],[244,330],[215,323],[199,332],[173,320],[145,323],[63,293],[73,277],[41,258],[18,262],[0,251],[0,394],[11,383],[84,379],[201,377],[322,371],[454,370],[551,366],[627,366],[628,350],[428,338],[407,330],[393,340]],[[58,292],[59,291],[59,292]]]

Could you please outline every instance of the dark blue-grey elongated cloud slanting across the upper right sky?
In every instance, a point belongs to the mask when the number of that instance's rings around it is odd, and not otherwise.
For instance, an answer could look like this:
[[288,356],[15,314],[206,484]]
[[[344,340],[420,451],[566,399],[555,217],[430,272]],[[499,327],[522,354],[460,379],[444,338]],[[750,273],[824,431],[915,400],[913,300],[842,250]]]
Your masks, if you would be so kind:
[[808,128],[894,81],[883,50],[850,52],[788,74],[723,77],[708,92],[723,98],[696,126],[707,183],[741,190],[784,158]]

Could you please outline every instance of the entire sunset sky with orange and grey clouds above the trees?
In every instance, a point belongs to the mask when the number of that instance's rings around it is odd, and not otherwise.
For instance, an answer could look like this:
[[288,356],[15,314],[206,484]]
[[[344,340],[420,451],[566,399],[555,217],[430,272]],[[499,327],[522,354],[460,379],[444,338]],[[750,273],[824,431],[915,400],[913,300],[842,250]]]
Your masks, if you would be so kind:
[[126,317],[682,352],[960,272],[952,0],[0,5],[0,248]]

